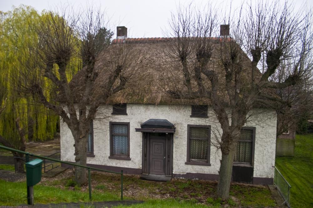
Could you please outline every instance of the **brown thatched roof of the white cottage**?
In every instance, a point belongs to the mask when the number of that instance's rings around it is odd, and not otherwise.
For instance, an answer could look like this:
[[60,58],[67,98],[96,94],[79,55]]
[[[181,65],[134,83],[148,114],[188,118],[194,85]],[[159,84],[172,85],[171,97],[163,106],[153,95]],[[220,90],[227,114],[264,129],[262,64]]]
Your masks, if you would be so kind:
[[[220,57],[220,38],[215,38],[212,61],[210,61],[210,69],[216,71],[219,75],[221,83],[225,83],[225,71],[222,68]],[[131,77],[125,86],[118,93],[111,96],[103,102],[106,104],[115,103],[136,103],[136,104],[210,104],[210,99],[174,99],[167,90],[185,90],[183,84],[184,75],[181,70],[179,60],[169,57],[169,41],[171,38],[126,38],[115,39],[105,53],[100,56],[96,62],[96,72],[99,74],[95,83],[96,90],[94,94],[101,94],[106,90],[103,83],[106,83],[112,69],[115,67],[114,50],[121,44],[131,45],[129,50],[131,53],[127,57],[129,70],[126,71],[126,76]],[[117,44],[116,44],[117,43]],[[249,85],[251,77],[251,61],[248,56],[242,52],[240,57],[243,63],[243,80]],[[189,63],[192,67],[193,63]],[[128,73],[128,74],[127,74]],[[83,89],[82,77],[85,76],[85,70],[81,70],[74,76],[71,81],[72,87],[77,94]],[[203,80],[207,88],[210,88],[210,82],[203,75]],[[116,81],[115,86],[119,84]],[[196,89],[196,83],[192,83]],[[219,93],[221,96],[226,96],[224,90],[225,85],[221,85]],[[80,99],[79,96],[77,99]]]

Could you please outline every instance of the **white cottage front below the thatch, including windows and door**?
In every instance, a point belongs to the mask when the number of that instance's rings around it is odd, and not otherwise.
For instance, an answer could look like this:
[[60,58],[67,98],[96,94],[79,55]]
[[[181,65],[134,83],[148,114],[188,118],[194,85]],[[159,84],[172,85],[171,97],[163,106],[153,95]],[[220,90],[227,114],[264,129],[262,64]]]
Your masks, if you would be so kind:
[[[212,109],[192,115],[192,105],[126,104],[124,112],[104,105],[88,142],[87,164],[126,174],[218,180],[222,130]],[[254,109],[242,129],[233,181],[270,184],[274,178],[276,113]],[[60,123],[61,159],[74,162],[74,139]]]

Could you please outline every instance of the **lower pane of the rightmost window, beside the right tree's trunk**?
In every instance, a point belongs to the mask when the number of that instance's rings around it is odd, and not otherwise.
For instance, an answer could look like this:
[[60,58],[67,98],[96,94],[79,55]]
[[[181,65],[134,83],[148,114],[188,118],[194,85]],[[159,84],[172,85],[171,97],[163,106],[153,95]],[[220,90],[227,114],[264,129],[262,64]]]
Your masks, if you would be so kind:
[[246,162],[251,164],[252,142],[238,142],[234,162]]

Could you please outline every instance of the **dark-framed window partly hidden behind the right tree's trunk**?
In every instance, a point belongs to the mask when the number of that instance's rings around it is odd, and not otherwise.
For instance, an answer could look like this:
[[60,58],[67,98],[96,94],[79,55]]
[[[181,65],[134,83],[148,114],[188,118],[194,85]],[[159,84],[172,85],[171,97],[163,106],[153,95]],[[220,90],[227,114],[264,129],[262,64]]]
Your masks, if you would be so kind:
[[235,164],[253,165],[255,128],[243,128],[234,156]]

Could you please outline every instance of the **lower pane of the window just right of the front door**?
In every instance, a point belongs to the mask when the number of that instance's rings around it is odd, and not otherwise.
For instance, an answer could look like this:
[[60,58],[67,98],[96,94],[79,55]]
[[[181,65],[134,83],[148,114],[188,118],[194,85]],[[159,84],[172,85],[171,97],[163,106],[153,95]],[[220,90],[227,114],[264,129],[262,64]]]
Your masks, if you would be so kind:
[[190,140],[190,159],[207,160],[208,140]]

